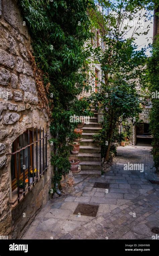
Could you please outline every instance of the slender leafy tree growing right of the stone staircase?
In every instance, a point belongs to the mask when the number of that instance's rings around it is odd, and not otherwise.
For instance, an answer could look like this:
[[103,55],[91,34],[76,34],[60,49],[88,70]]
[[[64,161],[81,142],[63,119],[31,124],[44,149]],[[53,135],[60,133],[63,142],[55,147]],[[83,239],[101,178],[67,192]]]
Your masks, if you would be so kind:
[[[102,43],[95,49],[90,45],[90,50],[96,63],[101,65],[102,79],[97,93],[89,100],[95,106],[100,103],[103,108],[100,140],[107,161],[115,139],[116,124],[128,118],[135,124],[133,118],[141,112],[140,102],[143,100],[137,86],[145,84],[146,48],[137,50],[135,40],[147,35],[150,27],[145,24],[151,18],[154,3],[99,0],[95,4],[90,17],[92,26],[100,30]],[[138,31],[141,27],[142,30]]]

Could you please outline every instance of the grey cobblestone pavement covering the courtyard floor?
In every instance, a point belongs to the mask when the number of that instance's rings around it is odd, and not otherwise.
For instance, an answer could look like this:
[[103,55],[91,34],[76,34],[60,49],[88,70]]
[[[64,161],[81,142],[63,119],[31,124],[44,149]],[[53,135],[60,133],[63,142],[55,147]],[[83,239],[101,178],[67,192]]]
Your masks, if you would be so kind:
[[[159,180],[149,146],[117,149],[111,170],[100,176],[75,176],[75,191],[56,197],[40,211],[22,239],[152,239],[159,227]],[[144,164],[144,172],[124,170],[124,163]],[[93,188],[108,182],[109,192]],[[98,204],[96,217],[73,215],[78,203]]]

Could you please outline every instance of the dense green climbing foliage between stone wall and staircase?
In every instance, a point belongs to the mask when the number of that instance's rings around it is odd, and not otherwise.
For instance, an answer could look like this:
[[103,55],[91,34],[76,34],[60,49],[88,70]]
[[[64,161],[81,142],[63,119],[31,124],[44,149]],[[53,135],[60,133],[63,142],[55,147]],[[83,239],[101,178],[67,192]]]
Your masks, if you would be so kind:
[[50,99],[54,152],[54,184],[69,171],[70,143],[75,135],[76,123],[70,116],[89,115],[88,102],[77,96],[90,90],[87,75],[89,51],[84,43],[90,37],[87,8],[89,0],[20,0],[23,16],[29,27],[34,56],[44,72],[45,86],[50,83]]

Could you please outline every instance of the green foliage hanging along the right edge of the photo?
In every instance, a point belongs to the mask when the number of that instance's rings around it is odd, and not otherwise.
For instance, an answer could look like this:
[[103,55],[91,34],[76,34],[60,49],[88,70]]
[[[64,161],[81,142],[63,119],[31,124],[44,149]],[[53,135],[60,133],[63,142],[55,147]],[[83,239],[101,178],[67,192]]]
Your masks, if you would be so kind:
[[150,130],[153,136],[152,155],[154,166],[159,171],[159,38],[156,39],[152,48],[152,56],[148,59],[147,77],[149,91],[152,97],[152,108],[150,111]]

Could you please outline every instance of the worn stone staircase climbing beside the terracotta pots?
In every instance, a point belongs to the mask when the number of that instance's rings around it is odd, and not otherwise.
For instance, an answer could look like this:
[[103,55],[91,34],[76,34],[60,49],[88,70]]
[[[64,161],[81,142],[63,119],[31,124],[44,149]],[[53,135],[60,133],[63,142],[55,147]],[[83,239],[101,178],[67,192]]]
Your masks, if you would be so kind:
[[[80,159],[80,174],[101,174],[101,147],[99,142],[93,142],[92,135],[98,133],[102,125],[98,123],[98,113],[95,109],[91,110],[94,116],[90,118],[89,124],[85,124],[80,141],[80,151],[76,155]],[[72,156],[72,155],[71,155]]]

